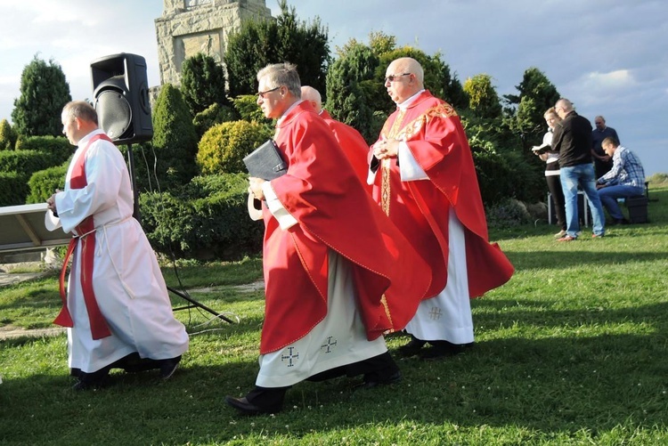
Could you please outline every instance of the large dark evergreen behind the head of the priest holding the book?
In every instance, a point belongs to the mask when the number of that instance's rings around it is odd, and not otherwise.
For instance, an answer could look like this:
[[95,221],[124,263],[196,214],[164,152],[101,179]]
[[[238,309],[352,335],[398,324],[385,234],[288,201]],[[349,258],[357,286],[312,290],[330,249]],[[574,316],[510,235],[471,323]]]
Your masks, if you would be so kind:
[[298,20],[287,0],[280,0],[279,6],[275,21],[247,21],[227,37],[224,61],[230,96],[256,93],[257,71],[283,61],[297,65],[302,85],[324,91],[330,61],[327,28],[319,18],[312,23]]

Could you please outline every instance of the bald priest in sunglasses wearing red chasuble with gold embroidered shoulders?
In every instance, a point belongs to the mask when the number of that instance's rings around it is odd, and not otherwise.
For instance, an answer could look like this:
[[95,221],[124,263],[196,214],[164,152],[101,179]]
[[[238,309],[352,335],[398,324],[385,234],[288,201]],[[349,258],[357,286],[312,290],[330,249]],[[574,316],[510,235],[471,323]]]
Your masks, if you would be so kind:
[[399,353],[424,359],[460,353],[474,342],[469,298],[501,286],[514,269],[489,243],[476,168],[455,110],[424,89],[414,59],[393,61],[385,76],[397,108],[371,146],[368,182],[433,272],[433,297],[406,326],[411,342]]

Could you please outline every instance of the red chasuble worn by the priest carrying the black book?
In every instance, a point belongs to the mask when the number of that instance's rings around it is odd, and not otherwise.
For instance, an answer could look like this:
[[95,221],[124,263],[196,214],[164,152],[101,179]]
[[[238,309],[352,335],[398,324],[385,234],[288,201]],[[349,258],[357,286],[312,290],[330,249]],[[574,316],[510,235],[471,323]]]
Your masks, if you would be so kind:
[[276,127],[288,173],[271,182],[297,224],[282,230],[263,205],[265,323],[260,353],[304,337],[327,313],[328,250],[350,263],[367,337],[402,329],[431,270],[365,191],[324,120],[300,102]]

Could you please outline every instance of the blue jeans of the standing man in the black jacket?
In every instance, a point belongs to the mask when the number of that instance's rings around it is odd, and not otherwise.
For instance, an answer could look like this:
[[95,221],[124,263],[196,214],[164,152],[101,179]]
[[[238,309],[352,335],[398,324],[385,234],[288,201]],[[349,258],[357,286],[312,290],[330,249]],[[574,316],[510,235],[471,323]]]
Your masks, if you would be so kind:
[[591,218],[593,220],[594,235],[603,235],[606,232],[606,219],[596,190],[594,165],[591,163],[577,166],[561,167],[561,188],[566,200],[566,233],[577,237],[580,231],[580,219],[577,215],[577,188],[580,186],[589,200]]

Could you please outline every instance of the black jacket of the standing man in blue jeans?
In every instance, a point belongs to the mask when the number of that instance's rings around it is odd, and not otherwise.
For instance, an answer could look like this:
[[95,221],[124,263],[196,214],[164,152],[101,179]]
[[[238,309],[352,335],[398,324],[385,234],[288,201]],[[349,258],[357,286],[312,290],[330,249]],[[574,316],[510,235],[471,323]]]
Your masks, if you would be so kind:
[[591,163],[591,123],[574,111],[554,127],[552,150],[559,152],[559,166]]

